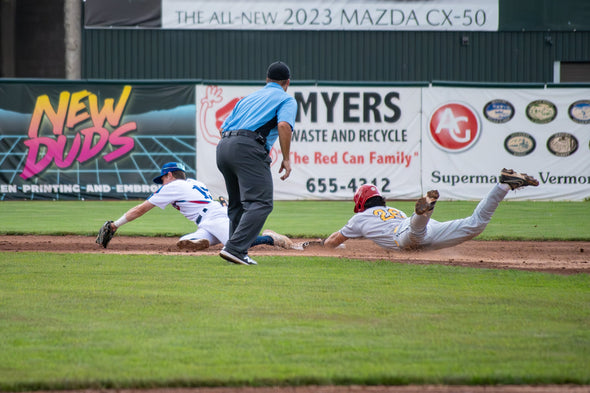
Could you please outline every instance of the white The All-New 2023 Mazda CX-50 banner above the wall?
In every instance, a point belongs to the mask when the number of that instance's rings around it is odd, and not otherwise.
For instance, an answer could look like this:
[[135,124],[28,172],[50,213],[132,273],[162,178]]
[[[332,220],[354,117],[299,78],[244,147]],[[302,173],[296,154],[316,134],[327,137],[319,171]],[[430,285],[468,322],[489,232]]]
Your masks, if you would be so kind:
[[497,31],[498,1],[162,0],[162,28]]

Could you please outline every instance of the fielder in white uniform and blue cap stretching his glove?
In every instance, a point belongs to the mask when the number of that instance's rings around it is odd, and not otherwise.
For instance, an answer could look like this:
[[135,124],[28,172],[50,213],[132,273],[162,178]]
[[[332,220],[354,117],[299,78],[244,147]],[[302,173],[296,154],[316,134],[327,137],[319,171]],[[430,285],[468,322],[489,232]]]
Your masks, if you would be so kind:
[[[176,245],[185,250],[204,250],[209,246],[225,244],[229,238],[229,218],[227,205],[213,199],[207,186],[195,179],[187,179],[185,167],[179,162],[169,162],[162,166],[160,176],[154,178],[154,183],[162,187],[150,195],[143,203],[129,209],[118,220],[111,224],[113,230],[121,225],[141,217],[154,207],[164,209],[172,205],[189,221],[197,225],[193,233],[182,236]],[[271,230],[265,230],[262,236],[254,241],[252,246],[259,244],[276,245],[291,248],[291,239]]]

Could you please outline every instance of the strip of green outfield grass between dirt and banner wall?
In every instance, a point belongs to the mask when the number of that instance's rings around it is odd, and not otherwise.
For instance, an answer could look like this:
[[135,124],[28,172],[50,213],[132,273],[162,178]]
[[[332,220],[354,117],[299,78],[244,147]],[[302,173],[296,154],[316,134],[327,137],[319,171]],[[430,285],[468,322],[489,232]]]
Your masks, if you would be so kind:
[[[96,235],[105,220],[115,220],[141,201],[0,202],[0,234]],[[410,214],[413,202],[392,202]],[[470,215],[471,201],[440,201],[433,218],[452,220]],[[277,201],[266,227],[292,237],[325,237],[352,216],[352,202]],[[590,240],[590,202],[514,202],[500,204],[481,240]],[[119,236],[179,236],[194,225],[172,207],[152,209],[126,224]]]

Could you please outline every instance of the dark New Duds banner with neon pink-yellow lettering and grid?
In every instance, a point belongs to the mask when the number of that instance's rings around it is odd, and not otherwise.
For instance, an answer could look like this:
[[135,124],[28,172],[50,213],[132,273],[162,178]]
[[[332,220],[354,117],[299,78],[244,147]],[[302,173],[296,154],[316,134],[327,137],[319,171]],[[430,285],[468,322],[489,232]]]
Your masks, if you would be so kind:
[[136,199],[194,176],[194,86],[0,84],[0,200]]

